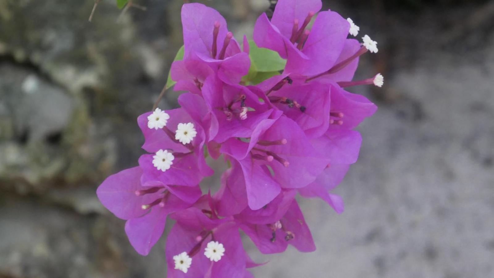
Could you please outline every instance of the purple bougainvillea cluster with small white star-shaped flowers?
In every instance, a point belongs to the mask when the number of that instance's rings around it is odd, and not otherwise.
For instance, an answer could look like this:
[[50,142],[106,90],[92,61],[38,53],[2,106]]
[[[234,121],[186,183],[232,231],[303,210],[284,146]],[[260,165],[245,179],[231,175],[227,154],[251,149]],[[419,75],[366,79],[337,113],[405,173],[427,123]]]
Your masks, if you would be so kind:
[[[360,28],[321,7],[321,0],[280,0],[271,20],[257,19],[253,41],[239,44],[216,10],[183,5],[183,55],[170,71],[174,89],[186,91],[180,108],[141,115],[147,153],[97,190],[126,220],[139,254],[162,237],[168,216],[174,220],[167,277],[252,277],[247,269],[259,264],[243,234],[264,254],[288,245],[314,251],[297,195],[343,211],[331,190],[359,156],[354,129],[377,109],[346,88],[384,80],[352,81],[359,57],[377,52],[377,43],[349,38]],[[228,164],[221,185],[200,186],[214,173],[206,158]]]

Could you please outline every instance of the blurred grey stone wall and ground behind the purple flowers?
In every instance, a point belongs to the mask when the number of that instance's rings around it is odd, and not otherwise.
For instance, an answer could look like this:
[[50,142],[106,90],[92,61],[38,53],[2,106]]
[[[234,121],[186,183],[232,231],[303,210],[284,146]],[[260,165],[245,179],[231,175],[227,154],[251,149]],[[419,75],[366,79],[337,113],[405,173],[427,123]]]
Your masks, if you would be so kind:
[[[137,164],[182,45],[182,0],[0,0],[0,278],[159,278],[165,240],[139,256],[95,195]],[[237,38],[268,0],[204,1]],[[331,0],[379,44],[352,88],[379,110],[335,190],[301,204],[318,250],[259,255],[260,278],[494,277],[494,1]],[[359,37],[362,37],[359,36]],[[168,92],[161,108],[176,107]],[[208,185],[218,183],[208,180]],[[206,186],[208,186],[206,185]],[[170,226],[168,226],[169,229]]]

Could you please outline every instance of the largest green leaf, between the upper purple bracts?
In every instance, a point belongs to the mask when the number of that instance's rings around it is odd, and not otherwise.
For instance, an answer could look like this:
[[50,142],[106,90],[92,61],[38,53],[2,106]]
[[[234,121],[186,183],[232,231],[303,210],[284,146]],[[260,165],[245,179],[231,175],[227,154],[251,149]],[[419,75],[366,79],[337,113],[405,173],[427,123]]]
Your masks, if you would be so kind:
[[285,68],[287,61],[280,57],[278,52],[268,48],[259,48],[253,40],[248,41],[250,47],[250,61],[255,65],[257,71],[273,72]]

